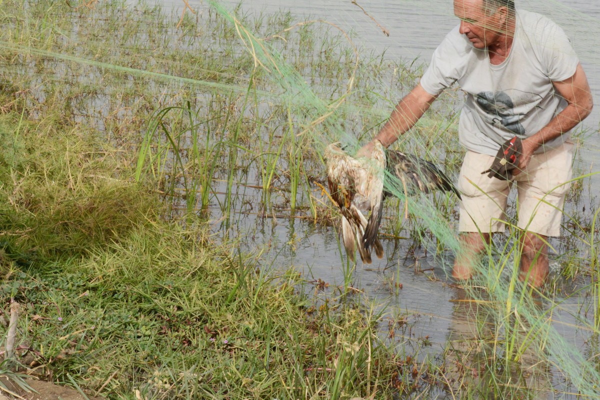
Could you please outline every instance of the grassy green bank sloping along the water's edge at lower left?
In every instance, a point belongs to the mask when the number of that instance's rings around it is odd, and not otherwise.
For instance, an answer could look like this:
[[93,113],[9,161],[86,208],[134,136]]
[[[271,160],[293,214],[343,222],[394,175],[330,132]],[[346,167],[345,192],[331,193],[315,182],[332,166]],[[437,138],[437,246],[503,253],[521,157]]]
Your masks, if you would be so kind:
[[165,221],[84,127],[11,112],[0,127],[0,298],[5,318],[22,305],[17,360],[35,375],[114,399],[390,395],[398,364],[360,299],[317,306],[297,273]]

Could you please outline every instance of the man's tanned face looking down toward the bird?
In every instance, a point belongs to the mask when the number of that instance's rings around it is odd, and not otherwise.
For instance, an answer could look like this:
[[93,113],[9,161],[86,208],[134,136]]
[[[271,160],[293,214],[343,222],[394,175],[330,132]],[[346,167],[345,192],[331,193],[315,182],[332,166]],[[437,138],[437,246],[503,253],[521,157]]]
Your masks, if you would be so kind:
[[460,19],[460,33],[469,38],[473,47],[485,49],[496,44],[503,22],[499,10],[487,15],[483,0],[454,0],[454,15]]

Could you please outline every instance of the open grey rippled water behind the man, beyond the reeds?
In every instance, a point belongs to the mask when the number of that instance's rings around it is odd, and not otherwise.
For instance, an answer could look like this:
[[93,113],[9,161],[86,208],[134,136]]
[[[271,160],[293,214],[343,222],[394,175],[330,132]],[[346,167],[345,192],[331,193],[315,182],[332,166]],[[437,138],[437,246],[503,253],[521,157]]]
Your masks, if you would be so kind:
[[[235,7],[238,0],[223,0]],[[181,9],[181,0],[163,0],[166,7]],[[205,1],[189,0],[191,7]],[[245,0],[246,14],[290,11],[297,20],[323,19],[352,35],[364,49],[385,52],[389,59],[427,63],[442,38],[457,25],[451,0]],[[565,30],[587,72],[596,100],[600,99],[600,2],[588,0],[518,0],[517,7],[545,14]],[[365,14],[366,12],[366,14]],[[383,31],[389,32],[386,36]],[[598,128],[600,113],[590,116]],[[597,143],[597,142],[596,142]]]

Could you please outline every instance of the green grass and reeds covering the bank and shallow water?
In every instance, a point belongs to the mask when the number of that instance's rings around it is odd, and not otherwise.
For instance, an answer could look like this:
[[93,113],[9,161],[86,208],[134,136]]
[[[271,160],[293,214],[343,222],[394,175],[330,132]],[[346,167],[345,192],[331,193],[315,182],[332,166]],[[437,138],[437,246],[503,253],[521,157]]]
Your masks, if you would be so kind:
[[[545,291],[520,287],[512,229],[473,287],[447,281],[446,195],[407,200],[408,218],[388,201],[376,287],[347,262],[322,150],[370,137],[421,65],[329,23],[212,2],[12,0],[0,19],[0,299],[7,320],[22,305],[20,371],[110,399],[598,394],[593,173],[573,184]],[[457,99],[398,144],[449,176]],[[337,281],[294,265],[314,240]],[[404,270],[454,291],[445,341],[389,306]]]

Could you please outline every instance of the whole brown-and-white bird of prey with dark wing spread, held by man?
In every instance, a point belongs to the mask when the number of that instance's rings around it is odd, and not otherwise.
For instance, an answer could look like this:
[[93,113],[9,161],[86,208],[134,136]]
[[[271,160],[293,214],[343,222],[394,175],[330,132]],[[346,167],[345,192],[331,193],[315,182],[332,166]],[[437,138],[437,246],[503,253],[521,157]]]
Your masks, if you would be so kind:
[[[325,149],[327,181],[332,200],[341,213],[342,238],[346,254],[355,261],[356,250],[370,264],[371,249],[383,258],[383,246],[377,238],[383,215],[383,201],[395,194],[410,196],[432,190],[460,192],[435,164],[412,154],[386,150],[373,141],[370,157],[353,158],[340,142]],[[401,184],[401,186],[400,186]],[[369,218],[363,212],[369,213]]]

